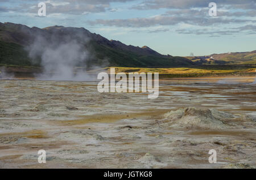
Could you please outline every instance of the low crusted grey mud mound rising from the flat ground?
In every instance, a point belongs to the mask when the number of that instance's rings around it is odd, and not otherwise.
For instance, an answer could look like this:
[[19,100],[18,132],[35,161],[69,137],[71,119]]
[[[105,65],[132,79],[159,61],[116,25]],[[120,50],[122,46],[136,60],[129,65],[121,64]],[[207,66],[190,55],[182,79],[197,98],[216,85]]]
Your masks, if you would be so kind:
[[233,118],[233,115],[211,109],[187,108],[171,111],[164,117],[164,122],[172,127],[222,129],[228,128],[224,121]]

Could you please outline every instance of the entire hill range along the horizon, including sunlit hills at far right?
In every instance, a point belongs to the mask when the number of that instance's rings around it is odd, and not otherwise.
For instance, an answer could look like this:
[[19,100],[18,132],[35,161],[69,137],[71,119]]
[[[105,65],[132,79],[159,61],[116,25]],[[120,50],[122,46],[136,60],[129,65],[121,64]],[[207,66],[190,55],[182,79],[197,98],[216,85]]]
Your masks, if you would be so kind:
[[[212,54],[198,57],[172,57],[162,55],[154,50],[143,46],[125,45],[122,42],[108,40],[105,37],[91,33],[84,28],[59,27],[30,28],[22,24],[0,23],[0,65],[15,66],[40,66],[40,54],[34,63],[28,57],[24,49],[31,45],[34,37],[40,35],[48,44],[52,42],[63,43],[65,38],[81,42],[84,50],[89,52],[84,62],[79,62],[79,67],[187,67],[203,65],[255,65],[256,51],[244,53]],[[55,37],[52,39],[52,37]],[[80,41],[86,38],[89,42]],[[56,42],[57,40],[57,42]],[[46,45],[47,46],[47,45]],[[220,67],[221,67],[220,66]]]

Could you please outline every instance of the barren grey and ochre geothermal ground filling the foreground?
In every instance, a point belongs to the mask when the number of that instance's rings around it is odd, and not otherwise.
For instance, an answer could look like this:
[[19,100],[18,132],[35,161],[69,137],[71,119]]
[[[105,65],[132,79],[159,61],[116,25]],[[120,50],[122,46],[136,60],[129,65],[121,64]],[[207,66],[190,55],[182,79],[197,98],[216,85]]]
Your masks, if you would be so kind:
[[254,77],[174,78],[148,99],[97,82],[0,80],[0,168],[255,168],[255,89]]

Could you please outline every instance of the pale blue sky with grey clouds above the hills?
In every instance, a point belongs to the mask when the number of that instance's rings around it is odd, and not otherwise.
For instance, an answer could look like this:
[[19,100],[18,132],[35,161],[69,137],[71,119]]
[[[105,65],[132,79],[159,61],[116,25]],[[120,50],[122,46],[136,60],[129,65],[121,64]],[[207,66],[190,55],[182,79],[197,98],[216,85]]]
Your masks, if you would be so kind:
[[[46,16],[38,15],[40,2]],[[209,15],[210,2],[217,16]],[[84,27],[170,55],[256,50],[256,0],[0,0],[0,22]]]

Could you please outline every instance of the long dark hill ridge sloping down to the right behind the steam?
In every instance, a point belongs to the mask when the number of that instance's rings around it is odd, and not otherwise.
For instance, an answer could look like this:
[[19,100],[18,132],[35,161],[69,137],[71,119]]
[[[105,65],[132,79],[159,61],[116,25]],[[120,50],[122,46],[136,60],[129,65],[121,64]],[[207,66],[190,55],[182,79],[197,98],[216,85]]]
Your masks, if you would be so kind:
[[[0,23],[0,64],[40,66],[40,55],[31,59],[26,49],[31,48],[38,36],[42,41],[76,40],[90,52],[81,66],[122,66],[122,67],[175,67],[191,66],[194,62],[184,57],[162,55],[143,46],[125,45],[120,41],[108,40],[91,33],[85,28],[53,26],[47,28],[27,27],[22,24]],[[39,44],[40,46],[40,44]],[[32,47],[33,48],[33,47]]]

